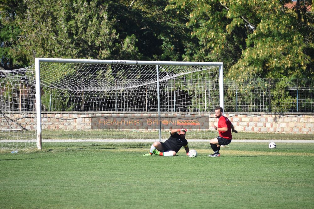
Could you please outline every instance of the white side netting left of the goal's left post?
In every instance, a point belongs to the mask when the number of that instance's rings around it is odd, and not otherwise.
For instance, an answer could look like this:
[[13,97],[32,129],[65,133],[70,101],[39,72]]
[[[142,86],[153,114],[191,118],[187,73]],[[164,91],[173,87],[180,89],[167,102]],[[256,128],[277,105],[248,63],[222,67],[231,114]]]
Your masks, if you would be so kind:
[[[35,71],[0,71],[0,148],[36,147]],[[34,74],[33,74],[34,72]]]

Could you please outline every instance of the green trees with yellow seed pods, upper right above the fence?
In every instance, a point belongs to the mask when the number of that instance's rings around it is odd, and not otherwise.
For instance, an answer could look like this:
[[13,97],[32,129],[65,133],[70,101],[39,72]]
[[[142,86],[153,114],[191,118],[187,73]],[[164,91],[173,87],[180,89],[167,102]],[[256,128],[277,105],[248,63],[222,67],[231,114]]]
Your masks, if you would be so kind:
[[170,0],[167,9],[192,8],[187,26],[199,51],[186,56],[224,62],[229,77],[313,78],[311,2],[297,1],[295,10],[285,8],[288,2]]

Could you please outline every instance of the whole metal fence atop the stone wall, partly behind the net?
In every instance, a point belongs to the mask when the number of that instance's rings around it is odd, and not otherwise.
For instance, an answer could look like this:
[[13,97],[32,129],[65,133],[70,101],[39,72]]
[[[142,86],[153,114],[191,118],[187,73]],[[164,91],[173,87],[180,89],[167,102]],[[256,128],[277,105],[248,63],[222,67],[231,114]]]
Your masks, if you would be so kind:
[[[22,81],[19,80],[12,81],[15,77],[0,77],[1,112],[35,111],[34,86],[22,85]],[[210,80],[207,77],[206,74],[198,77],[182,75],[160,82],[160,110],[168,113],[213,112],[214,107],[219,105],[218,80]],[[97,94],[88,94],[87,91],[77,92],[67,91],[67,94],[63,92],[63,97],[53,99],[51,89],[46,89],[46,93],[42,96],[42,104],[46,105],[42,105],[42,110],[158,111],[155,84],[123,89],[118,93],[116,90]],[[71,95],[72,97],[74,95],[74,100],[71,99]],[[255,79],[240,82],[225,78],[224,97],[224,107],[227,112],[314,113],[314,80]],[[84,99],[79,100],[80,98]],[[54,105],[51,105],[52,102]],[[118,108],[115,108],[115,102]],[[58,105],[67,105],[72,109],[55,108]]]

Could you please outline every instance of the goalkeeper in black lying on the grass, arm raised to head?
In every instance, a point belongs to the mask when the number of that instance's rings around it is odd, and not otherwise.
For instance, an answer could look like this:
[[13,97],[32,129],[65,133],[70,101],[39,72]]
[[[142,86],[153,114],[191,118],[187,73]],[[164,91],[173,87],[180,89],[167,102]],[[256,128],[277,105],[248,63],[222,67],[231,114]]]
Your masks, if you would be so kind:
[[150,147],[149,153],[144,154],[144,156],[151,156],[153,153],[161,156],[175,156],[181,147],[185,148],[185,152],[188,155],[189,146],[187,145],[187,140],[185,139],[186,132],[187,129],[171,130],[169,139],[165,142],[154,142]]

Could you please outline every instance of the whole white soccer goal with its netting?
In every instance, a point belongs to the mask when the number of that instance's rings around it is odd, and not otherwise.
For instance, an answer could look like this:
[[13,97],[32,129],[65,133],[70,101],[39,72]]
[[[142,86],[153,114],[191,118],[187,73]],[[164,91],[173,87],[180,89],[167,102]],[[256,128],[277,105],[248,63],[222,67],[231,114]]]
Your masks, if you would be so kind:
[[206,142],[224,107],[221,62],[36,58],[0,79],[1,149],[163,141],[175,128]]

